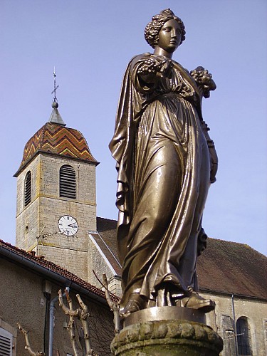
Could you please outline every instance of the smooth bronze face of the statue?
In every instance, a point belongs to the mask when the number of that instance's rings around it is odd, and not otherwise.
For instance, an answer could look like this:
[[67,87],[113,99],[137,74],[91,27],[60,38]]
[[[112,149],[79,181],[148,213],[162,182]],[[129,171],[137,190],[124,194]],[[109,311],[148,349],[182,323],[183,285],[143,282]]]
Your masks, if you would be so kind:
[[157,46],[164,51],[173,53],[182,39],[182,31],[176,20],[169,20],[164,23],[159,31],[159,41]]

